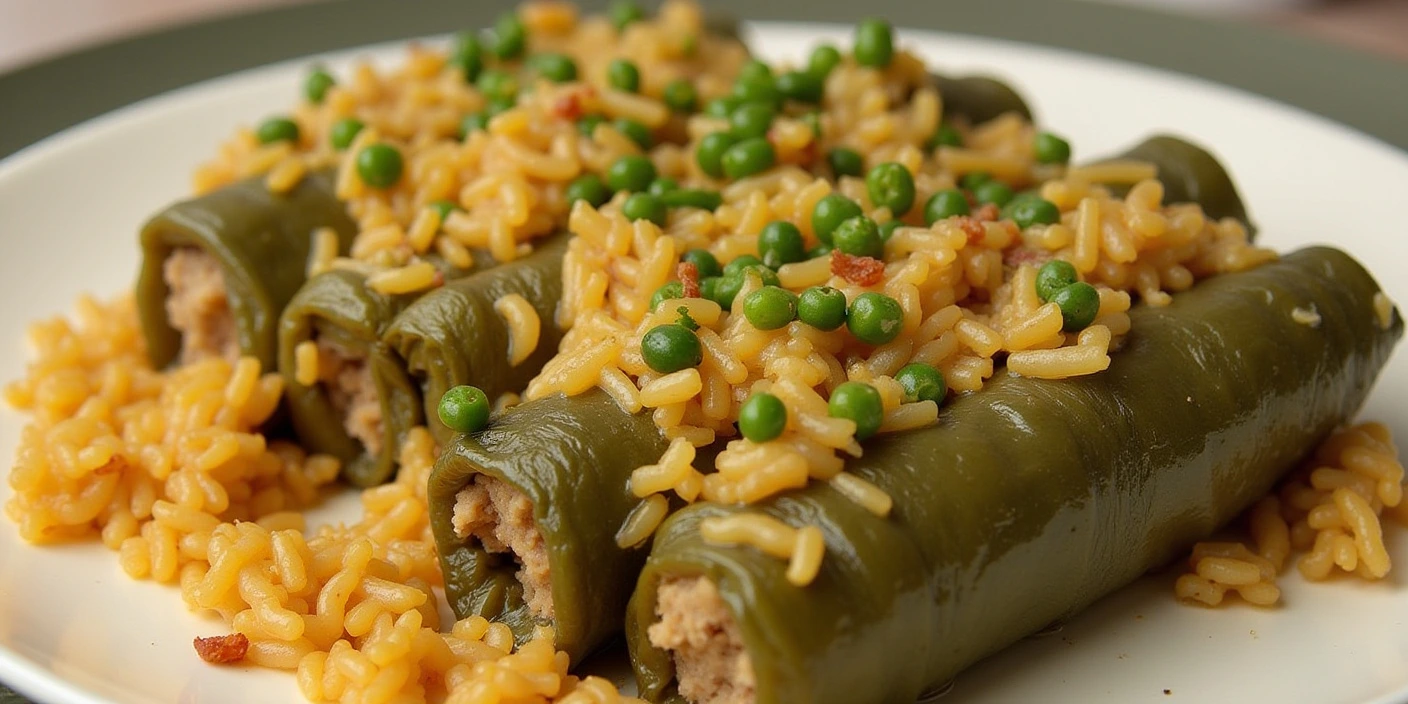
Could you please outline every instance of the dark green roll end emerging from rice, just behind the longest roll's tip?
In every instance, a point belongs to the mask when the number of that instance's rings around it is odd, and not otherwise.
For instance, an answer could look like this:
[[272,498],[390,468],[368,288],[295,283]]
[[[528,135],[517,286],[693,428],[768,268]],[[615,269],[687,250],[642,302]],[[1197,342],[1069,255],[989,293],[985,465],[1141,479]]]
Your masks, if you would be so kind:
[[1197,203],[1214,218],[1233,218],[1256,234],[1232,176],[1217,156],[1178,137],[1155,135],[1111,159],[1138,159],[1159,168],[1164,203]]

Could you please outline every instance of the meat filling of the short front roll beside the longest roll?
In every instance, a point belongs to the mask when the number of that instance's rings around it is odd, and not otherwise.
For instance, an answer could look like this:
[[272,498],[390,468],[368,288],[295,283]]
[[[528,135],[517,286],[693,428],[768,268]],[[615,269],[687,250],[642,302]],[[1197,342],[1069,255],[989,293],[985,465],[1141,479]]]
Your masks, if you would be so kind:
[[552,618],[548,546],[532,520],[532,501],[522,491],[477,474],[455,497],[453,525],[462,539],[476,539],[489,552],[511,553],[528,610]]

